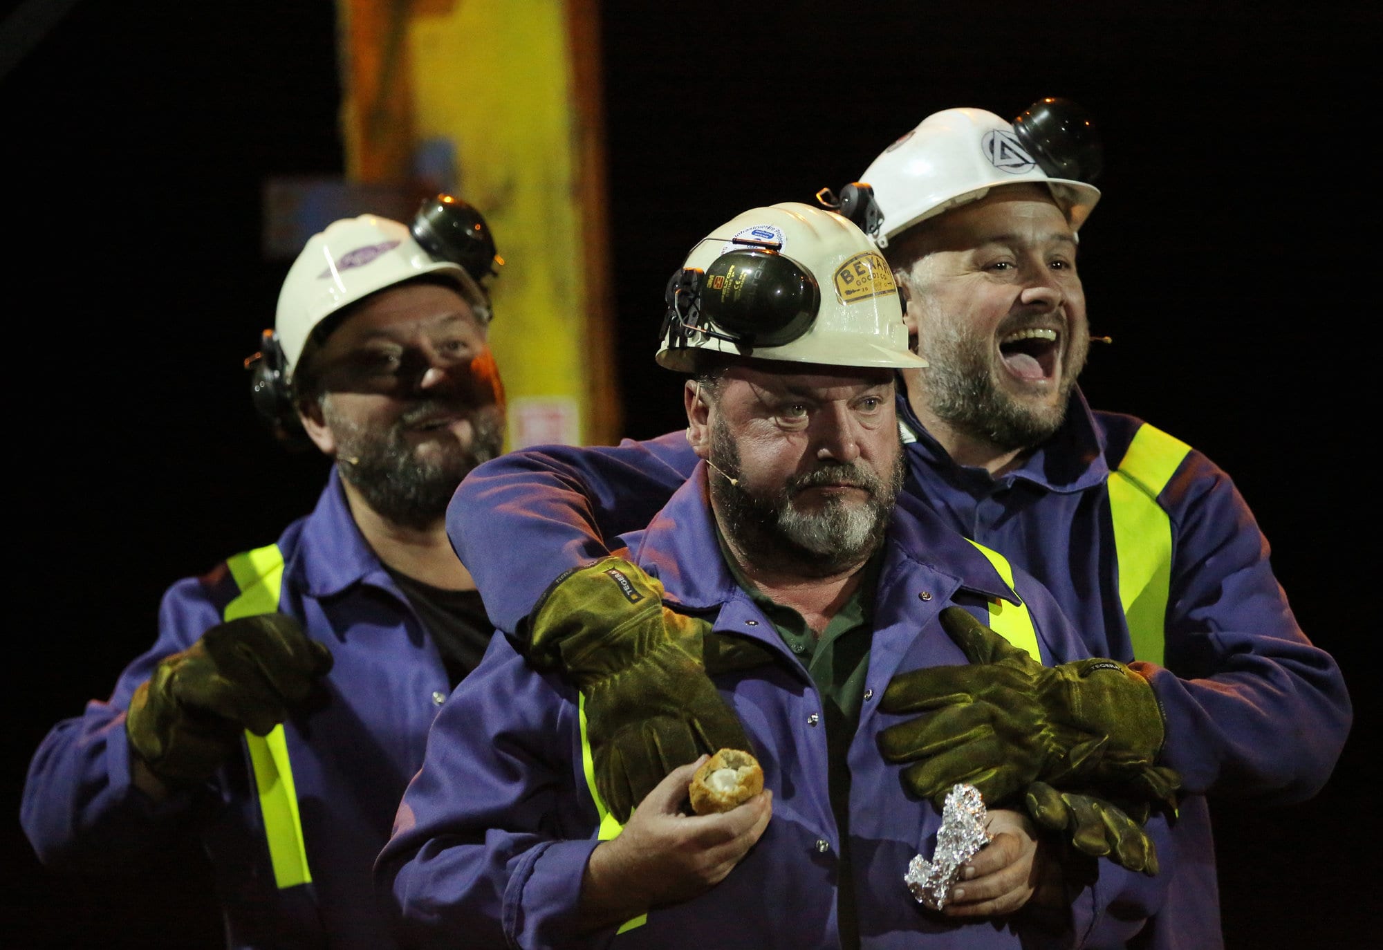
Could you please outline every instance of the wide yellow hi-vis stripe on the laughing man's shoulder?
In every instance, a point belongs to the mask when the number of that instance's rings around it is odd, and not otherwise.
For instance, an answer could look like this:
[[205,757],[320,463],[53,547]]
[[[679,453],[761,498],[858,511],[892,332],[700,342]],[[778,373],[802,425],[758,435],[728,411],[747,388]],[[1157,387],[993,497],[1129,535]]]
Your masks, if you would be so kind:
[[1119,560],[1119,603],[1135,660],[1163,662],[1171,588],[1171,520],[1158,495],[1191,447],[1144,423],[1109,473],[1109,514]]

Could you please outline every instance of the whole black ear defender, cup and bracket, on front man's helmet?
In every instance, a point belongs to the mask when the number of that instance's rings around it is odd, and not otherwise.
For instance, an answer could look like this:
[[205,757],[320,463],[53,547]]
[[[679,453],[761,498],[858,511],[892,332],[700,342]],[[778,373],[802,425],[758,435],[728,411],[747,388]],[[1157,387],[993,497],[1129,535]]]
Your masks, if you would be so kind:
[[816,319],[816,278],[772,248],[727,250],[705,271],[682,268],[668,281],[661,337],[687,346],[693,333],[734,343],[741,351],[784,346]]

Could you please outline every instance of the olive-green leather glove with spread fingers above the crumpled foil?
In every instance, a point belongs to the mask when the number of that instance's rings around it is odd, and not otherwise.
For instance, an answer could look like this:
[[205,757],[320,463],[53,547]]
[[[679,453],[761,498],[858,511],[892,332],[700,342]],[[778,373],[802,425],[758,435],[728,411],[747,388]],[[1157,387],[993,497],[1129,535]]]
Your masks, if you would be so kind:
[[1181,780],[1153,765],[1163,741],[1152,686],[1113,660],[1043,667],[960,607],[942,626],[968,667],[900,673],[885,712],[928,712],[880,733],[889,762],[909,762],[903,784],[942,802],[957,781],[990,805],[1033,781],[1170,802]]

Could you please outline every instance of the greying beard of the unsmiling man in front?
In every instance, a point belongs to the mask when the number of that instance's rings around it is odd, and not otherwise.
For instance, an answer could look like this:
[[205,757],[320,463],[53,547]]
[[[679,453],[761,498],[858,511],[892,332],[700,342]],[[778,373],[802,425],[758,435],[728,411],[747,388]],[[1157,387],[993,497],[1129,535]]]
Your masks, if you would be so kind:
[[[833,577],[869,560],[884,542],[903,487],[899,447],[888,481],[862,465],[823,462],[776,491],[745,488],[740,454],[722,418],[711,427],[711,462],[727,476],[709,472],[711,498],[726,538],[754,566],[798,577]],[[730,478],[740,484],[730,484]],[[830,499],[812,514],[792,506],[802,490],[838,481],[867,490],[869,502],[852,509],[842,499]]]

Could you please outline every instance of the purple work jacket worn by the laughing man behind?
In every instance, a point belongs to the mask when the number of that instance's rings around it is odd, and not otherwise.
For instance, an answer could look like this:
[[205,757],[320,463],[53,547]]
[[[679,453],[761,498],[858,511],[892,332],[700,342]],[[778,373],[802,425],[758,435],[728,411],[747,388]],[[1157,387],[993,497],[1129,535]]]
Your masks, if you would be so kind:
[[[1093,412],[1077,390],[1062,429],[1019,469],[993,478],[958,466],[903,395],[898,412],[909,438],[904,492],[1036,575],[1091,655],[1133,661],[1106,484],[1141,420]],[[462,483],[448,534],[490,618],[512,632],[552,578],[603,557],[607,539],[647,523],[696,465],[682,431],[615,448],[514,452]],[[1133,665],[1149,678],[1167,716],[1162,762],[1182,774],[1189,794],[1171,842],[1177,878],[1142,939],[1209,950],[1223,938],[1202,795],[1310,798],[1335,767],[1351,709],[1337,665],[1299,628],[1267,539],[1229,476],[1191,451],[1158,503],[1173,539],[1167,665]],[[514,543],[485,543],[495,534]]]

